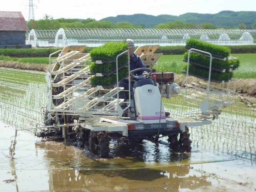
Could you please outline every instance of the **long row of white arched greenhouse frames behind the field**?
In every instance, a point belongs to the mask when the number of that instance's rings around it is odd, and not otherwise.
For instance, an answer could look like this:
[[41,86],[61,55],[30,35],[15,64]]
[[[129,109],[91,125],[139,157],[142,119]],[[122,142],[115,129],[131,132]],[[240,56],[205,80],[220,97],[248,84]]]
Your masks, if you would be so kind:
[[97,47],[110,41],[133,39],[136,46],[185,45],[196,38],[220,45],[250,45],[256,43],[256,30],[241,29],[101,29],[60,28],[59,30],[34,30],[26,32],[26,44],[32,47],[64,47],[86,45]]

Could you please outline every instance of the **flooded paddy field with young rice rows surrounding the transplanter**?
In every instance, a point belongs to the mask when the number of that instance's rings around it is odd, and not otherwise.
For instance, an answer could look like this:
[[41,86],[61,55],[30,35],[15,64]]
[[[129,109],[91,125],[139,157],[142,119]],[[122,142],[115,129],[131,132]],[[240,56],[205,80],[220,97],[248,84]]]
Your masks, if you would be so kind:
[[[110,142],[101,159],[63,142],[42,141],[15,129],[42,125],[46,105],[44,74],[0,68],[0,188],[16,192],[255,191],[256,111],[235,99],[212,125],[190,128],[192,150],[169,147],[166,138],[136,144]],[[254,98],[250,98],[256,102]],[[173,117],[193,110],[184,95],[164,99]]]

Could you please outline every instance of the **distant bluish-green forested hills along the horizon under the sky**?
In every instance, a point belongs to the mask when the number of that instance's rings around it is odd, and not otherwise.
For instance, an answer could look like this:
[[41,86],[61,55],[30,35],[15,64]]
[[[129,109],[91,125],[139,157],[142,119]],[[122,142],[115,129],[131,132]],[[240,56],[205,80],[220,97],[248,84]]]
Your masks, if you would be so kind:
[[199,14],[199,13],[186,13],[180,16],[173,15],[118,15],[116,17],[107,17],[103,20],[111,22],[130,22],[135,25],[141,25],[144,28],[154,28],[160,23],[173,22],[180,20],[186,23],[211,23],[218,28],[237,28],[238,24],[244,23],[246,26],[256,24],[256,11],[221,11],[216,14]]

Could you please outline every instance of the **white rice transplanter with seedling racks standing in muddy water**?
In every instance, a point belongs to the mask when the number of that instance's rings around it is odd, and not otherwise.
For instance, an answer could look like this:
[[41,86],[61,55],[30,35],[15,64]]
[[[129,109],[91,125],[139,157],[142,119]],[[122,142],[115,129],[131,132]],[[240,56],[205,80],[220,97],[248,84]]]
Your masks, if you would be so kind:
[[[156,142],[168,137],[170,146],[190,151],[189,127],[210,124],[213,118],[218,118],[220,107],[230,104],[212,96],[228,96],[230,90],[187,82],[186,90],[192,87],[206,93],[200,98],[186,96],[187,100],[196,101],[200,110],[190,118],[173,118],[165,112],[162,98],[177,96],[181,88],[174,83],[172,72],[152,72],[161,56],[154,53],[158,46],[138,47],[135,52],[147,68],[132,71],[128,45],[124,42],[106,43],[90,54],[83,53],[85,48],[66,46],[50,54],[45,76],[47,106],[42,110],[44,126],[35,128],[37,137],[62,138],[81,148],[89,143],[89,150],[99,157],[109,156],[109,143],[115,138]],[[58,58],[52,59],[56,54]],[[138,70],[146,71],[147,75],[131,75]],[[124,78],[129,80],[129,90],[118,86]],[[125,93],[126,99],[120,98],[121,93]]]

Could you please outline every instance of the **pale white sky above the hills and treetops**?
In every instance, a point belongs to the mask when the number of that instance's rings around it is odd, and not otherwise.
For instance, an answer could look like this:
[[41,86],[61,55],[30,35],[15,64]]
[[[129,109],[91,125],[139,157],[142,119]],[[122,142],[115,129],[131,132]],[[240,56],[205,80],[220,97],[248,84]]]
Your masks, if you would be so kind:
[[[31,5],[31,6],[30,6]],[[256,0],[1,0],[0,11],[22,12],[25,20],[40,20],[45,15],[58,18],[92,18],[110,16],[168,14],[188,12],[216,14],[220,11],[256,11]]]

